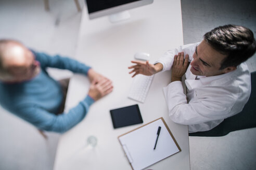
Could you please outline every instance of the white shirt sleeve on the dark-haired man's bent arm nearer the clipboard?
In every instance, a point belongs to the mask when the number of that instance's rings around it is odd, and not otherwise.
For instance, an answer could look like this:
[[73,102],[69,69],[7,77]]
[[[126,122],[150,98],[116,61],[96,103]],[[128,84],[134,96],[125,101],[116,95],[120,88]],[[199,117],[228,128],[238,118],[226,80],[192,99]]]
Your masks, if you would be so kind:
[[[163,88],[165,100],[168,104],[169,117],[179,124],[199,124],[202,122],[225,119],[232,114],[230,112],[236,98],[224,89],[213,89],[213,93],[208,93],[211,97],[194,97],[193,101],[187,102],[187,97],[183,93],[181,81],[171,82]],[[215,93],[219,93],[214,95]],[[207,92],[200,92],[207,93]]]

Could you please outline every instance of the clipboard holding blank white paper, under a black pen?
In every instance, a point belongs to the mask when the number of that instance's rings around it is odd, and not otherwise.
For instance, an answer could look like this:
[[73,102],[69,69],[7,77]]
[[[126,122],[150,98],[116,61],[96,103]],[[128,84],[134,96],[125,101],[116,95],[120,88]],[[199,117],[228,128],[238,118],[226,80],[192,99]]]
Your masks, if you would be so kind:
[[[159,126],[161,132],[154,150]],[[133,170],[144,169],[181,151],[162,117],[120,135],[118,139]]]

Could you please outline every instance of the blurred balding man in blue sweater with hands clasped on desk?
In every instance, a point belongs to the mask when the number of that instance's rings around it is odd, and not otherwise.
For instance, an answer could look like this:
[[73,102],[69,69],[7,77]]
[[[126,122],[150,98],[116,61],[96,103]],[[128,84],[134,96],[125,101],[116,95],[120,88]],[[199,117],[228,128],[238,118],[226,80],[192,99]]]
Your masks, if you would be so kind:
[[[48,75],[47,67],[84,74],[91,81],[87,96],[67,113],[60,111],[65,103],[63,87]],[[68,131],[112,89],[109,79],[83,63],[30,50],[15,40],[0,40],[0,104],[39,130]]]

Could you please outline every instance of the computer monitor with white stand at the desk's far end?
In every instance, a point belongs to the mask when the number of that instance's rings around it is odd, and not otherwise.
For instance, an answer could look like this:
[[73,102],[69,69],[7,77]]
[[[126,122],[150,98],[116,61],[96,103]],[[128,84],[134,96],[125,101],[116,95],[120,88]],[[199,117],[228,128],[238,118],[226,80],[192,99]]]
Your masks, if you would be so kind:
[[130,18],[128,9],[153,3],[153,0],[85,0],[89,19],[109,16],[110,22]]

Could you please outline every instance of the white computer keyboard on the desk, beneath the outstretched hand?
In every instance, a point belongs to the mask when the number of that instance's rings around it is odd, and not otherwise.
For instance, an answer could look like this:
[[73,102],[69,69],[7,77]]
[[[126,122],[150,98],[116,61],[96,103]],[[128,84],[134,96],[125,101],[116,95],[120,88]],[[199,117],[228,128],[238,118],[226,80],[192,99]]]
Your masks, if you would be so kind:
[[145,76],[138,74],[134,77],[128,97],[144,103],[154,75]]

